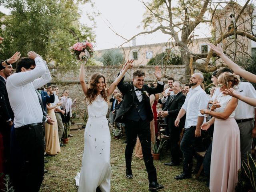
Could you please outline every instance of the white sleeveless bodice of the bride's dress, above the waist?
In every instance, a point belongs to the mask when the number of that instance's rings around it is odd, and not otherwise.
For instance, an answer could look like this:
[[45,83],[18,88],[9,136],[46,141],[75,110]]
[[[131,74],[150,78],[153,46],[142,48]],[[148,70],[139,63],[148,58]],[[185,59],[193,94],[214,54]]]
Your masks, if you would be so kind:
[[96,99],[91,103],[87,103],[89,118],[106,118],[108,112],[108,103],[101,95],[96,96]]

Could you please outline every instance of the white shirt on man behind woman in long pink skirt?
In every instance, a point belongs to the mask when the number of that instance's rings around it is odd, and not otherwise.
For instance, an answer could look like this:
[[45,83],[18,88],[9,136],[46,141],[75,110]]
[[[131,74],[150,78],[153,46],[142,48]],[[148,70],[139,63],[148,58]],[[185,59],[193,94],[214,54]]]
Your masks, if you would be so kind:
[[[252,84],[248,82],[240,82],[240,84],[238,84],[238,89],[236,91],[243,96],[254,99],[256,98],[256,90],[254,89]],[[238,100],[236,114],[234,118],[236,120],[254,118],[254,110],[255,108],[253,106],[250,106],[247,103]]]

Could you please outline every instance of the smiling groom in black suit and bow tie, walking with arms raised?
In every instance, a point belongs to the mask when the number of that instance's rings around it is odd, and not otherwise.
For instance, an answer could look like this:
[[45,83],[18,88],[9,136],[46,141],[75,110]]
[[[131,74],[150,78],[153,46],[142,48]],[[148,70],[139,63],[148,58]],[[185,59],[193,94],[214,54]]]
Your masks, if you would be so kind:
[[158,66],[155,67],[154,75],[158,82],[157,87],[148,87],[145,81],[145,72],[136,70],[133,73],[131,83],[124,82],[124,77],[118,84],[118,89],[124,96],[124,101],[120,106],[114,121],[125,123],[127,145],[125,148],[126,178],[132,179],[132,152],[136,144],[137,136],[142,146],[142,154],[148,172],[149,190],[164,188],[158,184],[156,178],[156,168],[153,164],[150,140],[150,121],[154,116],[150,106],[149,95],[161,93],[164,90],[164,83],[161,80],[162,73]]

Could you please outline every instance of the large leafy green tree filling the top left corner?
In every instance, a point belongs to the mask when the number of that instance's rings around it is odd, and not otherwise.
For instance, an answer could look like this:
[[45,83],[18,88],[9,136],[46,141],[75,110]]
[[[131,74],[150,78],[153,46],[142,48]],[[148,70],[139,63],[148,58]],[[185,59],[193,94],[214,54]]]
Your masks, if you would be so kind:
[[0,50],[1,59],[9,58],[16,51],[26,56],[28,51],[33,50],[47,62],[54,61],[56,66],[76,65],[69,47],[78,40],[93,42],[95,38],[93,26],[84,26],[78,22],[80,2],[90,3],[88,0],[5,2],[3,5],[11,10],[11,14],[4,16],[6,26],[2,31],[5,40]]

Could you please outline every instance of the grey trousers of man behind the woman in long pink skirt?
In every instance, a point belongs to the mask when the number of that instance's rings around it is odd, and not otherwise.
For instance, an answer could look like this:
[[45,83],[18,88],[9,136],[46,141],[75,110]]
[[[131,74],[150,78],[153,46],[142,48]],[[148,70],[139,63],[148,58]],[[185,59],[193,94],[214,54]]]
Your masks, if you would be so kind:
[[247,153],[252,154],[252,129],[254,127],[253,120],[238,123],[240,130],[240,143],[241,143],[241,160],[247,162]]

